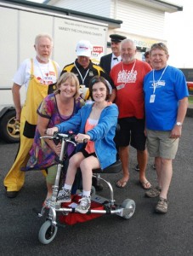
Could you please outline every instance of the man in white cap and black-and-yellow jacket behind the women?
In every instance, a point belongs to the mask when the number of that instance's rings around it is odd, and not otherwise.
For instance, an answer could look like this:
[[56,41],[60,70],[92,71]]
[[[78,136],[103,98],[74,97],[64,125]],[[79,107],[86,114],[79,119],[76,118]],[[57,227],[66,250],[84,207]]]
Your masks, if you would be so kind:
[[[81,40],[77,43],[77,59],[72,62],[71,64],[66,65],[62,73],[65,72],[71,72],[75,73],[77,75],[77,79],[79,80],[80,85],[84,85],[86,88],[88,88],[89,81],[94,76],[99,75],[103,78],[105,78],[107,81],[110,82],[112,86],[112,94],[110,97],[110,101],[113,102],[115,99],[115,86],[112,83],[112,80],[110,79],[109,75],[105,73],[105,70],[100,67],[99,65],[95,65],[91,60],[91,54],[92,54],[93,46],[90,44],[87,40]],[[61,73],[61,75],[62,75]],[[84,94],[85,95],[85,94]],[[84,97],[84,100],[87,100],[87,94]]]

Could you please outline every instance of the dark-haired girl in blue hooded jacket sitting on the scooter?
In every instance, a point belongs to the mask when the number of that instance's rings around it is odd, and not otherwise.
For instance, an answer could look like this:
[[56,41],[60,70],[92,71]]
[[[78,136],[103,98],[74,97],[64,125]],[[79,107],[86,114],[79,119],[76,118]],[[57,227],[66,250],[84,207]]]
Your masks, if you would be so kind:
[[91,104],[83,106],[70,120],[46,131],[49,136],[54,132],[73,131],[77,134],[77,153],[69,161],[65,185],[60,190],[57,201],[71,202],[71,187],[77,168],[80,167],[83,191],[76,212],[81,213],[88,212],[91,205],[92,170],[105,169],[116,162],[114,137],[118,108],[116,104],[108,102],[111,85],[104,78],[95,76],[90,81],[89,93],[93,100]]

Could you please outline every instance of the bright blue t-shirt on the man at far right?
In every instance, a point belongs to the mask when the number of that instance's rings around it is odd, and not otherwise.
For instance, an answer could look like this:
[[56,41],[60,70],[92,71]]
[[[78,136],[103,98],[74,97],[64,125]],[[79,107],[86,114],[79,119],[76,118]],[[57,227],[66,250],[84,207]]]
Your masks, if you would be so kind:
[[171,66],[167,66],[165,72],[164,68],[152,70],[145,76],[144,91],[146,128],[171,131],[176,123],[179,100],[189,96],[184,74]]

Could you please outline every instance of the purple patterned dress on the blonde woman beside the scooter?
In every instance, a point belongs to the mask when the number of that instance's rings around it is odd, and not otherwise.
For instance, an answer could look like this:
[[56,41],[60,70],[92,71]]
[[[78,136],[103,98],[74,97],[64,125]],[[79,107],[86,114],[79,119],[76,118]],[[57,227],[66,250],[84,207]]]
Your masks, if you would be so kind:
[[[74,102],[74,109],[71,116],[77,113],[77,111],[82,108],[84,105],[84,101],[81,97],[75,99]],[[48,118],[48,128],[53,127],[54,125],[60,124],[61,122],[65,122],[68,119],[71,119],[71,116],[64,116],[60,114],[60,110],[58,109],[56,97],[53,94],[48,95],[43,102],[40,104],[39,108],[37,109],[37,113],[42,116],[43,118]],[[54,166],[57,164],[59,157],[54,151],[49,148],[48,144],[43,140],[40,139],[41,135],[36,130],[34,142],[30,151],[30,160],[26,168],[23,171],[29,170],[41,170],[45,169],[49,166]],[[74,146],[70,143],[68,145],[67,153],[71,155],[74,151]]]

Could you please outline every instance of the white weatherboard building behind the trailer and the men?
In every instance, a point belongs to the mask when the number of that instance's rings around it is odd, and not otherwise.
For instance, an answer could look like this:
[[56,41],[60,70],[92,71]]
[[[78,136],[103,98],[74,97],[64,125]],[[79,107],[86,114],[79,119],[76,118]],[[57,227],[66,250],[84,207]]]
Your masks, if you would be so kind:
[[119,33],[133,39],[139,49],[138,58],[142,58],[142,53],[151,44],[167,43],[165,15],[183,10],[182,6],[163,0],[47,0],[44,3],[90,17],[98,15],[122,21],[119,26],[109,23],[108,34]]

